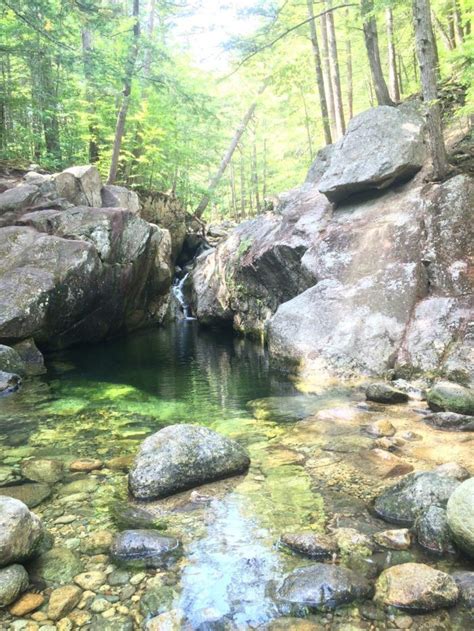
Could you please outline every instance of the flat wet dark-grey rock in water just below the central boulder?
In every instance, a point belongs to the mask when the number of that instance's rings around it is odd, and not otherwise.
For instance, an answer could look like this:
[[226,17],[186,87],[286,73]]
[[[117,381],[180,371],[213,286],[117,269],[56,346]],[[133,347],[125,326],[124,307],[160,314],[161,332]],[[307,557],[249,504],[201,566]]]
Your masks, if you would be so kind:
[[134,567],[162,567],[180,550],[180,542],[155,530],[124,530],[114,540],[110,557]]

